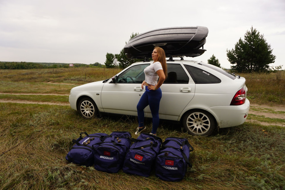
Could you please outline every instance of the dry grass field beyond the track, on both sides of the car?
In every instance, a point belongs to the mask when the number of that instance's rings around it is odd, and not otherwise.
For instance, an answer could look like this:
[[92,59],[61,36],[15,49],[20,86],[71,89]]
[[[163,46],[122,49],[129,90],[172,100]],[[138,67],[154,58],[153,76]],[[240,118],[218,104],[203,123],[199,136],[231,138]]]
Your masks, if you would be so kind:
[[[111,78],[120,69],[58,68],[0,70],[0,92],[69,94],[71,88]],[[241,73],[252,103],[285,104],[285,71]]]

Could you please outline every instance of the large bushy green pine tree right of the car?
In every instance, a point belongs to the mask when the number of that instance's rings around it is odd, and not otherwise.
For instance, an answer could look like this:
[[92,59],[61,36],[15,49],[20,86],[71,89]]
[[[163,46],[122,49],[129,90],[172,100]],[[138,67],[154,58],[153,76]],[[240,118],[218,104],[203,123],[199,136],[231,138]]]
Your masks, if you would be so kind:
[[268,72],[269,64],[276,58],[263,34],[253,27],[246,31],[244,40],[239,39],[235,49],[227,50],[227,57],[231,69],[237,72]]

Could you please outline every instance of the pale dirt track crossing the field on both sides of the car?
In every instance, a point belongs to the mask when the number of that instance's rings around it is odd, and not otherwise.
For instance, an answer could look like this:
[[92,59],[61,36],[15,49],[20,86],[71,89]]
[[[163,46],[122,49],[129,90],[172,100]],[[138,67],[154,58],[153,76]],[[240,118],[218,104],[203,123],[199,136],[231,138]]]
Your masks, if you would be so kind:
[[[0,94],[9,94],[9,93],[0,93]],[[11,95],[56,95],[56,96],[68,96],[68,94],[11,94]],[[69,102],[62,103],[62,102],[34,102],[34,101],[27,101],[27,100],[9,100],[9,99],[0,99],[0,103],[20,103],[20,104],[46,104],[46,105],[61,105],[61,106],[69,106]],[[268,104],[251,104],[249,114],[264,116],[265,118],[279,118],[285,119],[284,113],[285,112],[284,105],[268,105]],[[262,125],[278,125],[285,127],[285,123],[267,123],[261,122],[256,120],[247,120],[248,122],[259,123]]]

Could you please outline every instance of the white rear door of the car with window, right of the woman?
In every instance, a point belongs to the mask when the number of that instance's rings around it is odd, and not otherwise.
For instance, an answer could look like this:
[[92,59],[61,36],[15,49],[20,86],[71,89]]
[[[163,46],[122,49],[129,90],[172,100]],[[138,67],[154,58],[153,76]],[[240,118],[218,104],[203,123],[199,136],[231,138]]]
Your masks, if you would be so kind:
[[[181,61],[167,62],[167,73],[168,77],[160,87],[162,99],[159,105],[159,118],[177,120],[194,97],[195,83]],[[149,106],[145,108],[145,115],[152,117]]]

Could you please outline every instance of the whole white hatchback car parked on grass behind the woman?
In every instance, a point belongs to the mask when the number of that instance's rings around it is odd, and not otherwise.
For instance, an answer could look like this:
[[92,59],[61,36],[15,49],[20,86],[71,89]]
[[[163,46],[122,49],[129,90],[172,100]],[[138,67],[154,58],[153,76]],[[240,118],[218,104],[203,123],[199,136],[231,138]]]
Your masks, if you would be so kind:
[[[137,116],[144,93],[143,70],[151,63],[134,63],[111,79],[72,88],[70,106],[83,118],[105,113]],[[180,121],[192,135],[208,135],[215,128],[246,121],[250,103],[244,77],[201,61],[167,61],[167,71],[160,87],[160,119]],[[149,106],[144,111],[145,117],[152,117]]]

